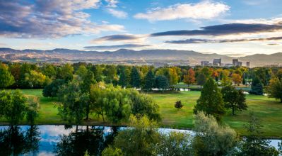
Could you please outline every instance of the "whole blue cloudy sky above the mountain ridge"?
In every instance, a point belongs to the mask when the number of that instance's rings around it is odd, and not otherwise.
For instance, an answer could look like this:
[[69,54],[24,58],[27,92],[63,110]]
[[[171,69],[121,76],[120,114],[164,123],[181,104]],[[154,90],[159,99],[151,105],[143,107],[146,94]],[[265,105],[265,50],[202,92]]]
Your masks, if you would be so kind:
[[281,0],[0,0],[0,47],[282,52]]

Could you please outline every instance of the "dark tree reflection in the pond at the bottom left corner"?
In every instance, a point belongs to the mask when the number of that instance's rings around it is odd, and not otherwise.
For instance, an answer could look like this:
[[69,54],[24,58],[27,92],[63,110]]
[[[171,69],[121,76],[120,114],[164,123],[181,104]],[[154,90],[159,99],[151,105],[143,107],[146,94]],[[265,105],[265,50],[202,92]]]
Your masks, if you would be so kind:
[[8,126],[0,130],[0,155],[35,155],[38,151],[40,133],[37,126],[21,130]]

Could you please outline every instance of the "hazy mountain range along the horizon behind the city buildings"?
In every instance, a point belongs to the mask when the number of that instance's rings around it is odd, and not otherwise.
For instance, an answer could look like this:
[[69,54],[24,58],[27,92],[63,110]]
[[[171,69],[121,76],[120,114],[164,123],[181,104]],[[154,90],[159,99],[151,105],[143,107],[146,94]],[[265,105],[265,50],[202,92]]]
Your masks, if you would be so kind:
[[251,67],[277,65],[282,62],[282,52],[271,55],[255,54],[245,57],[230,57],[216,53],[204,54],[192,50],[128,50],[116,51],[85,51],[70,49],[54,50],[14,50],[0,48],[0,60],[10,62],[91,62],[110,64],[139,64],[139,65],[200,65],[207,60],[212,62],[221,58],[223,63],[232,63],[233,58],[239,61],[251,62]]

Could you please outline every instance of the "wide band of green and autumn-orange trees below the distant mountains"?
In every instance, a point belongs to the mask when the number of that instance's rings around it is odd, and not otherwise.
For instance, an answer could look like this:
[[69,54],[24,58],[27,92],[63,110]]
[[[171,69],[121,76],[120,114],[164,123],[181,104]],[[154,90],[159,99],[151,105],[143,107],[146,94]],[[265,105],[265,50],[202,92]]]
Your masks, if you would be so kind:
[[[72,65],[36,65],[30,63],[8,63],[0,65],[0,88],[44,88],[48,84],[70,82],[76,75],[92,72],[96,82],[105,82],[114,86],[139,88],[150,91],[174,89],[175,84],[184,82],[204,85],[212,78],[222,86],[252,85],[251,94],[263,94],[271,79],[282,77],[282,69],[278,67],[158,67],[126,66],[126,65],[92,65],[78,62]],[[89,74],[89,73],[88,73]],[[88,75],[90,76],[90,74]],[[54,84],[55,85],[55,84]],[[49,88],[51,89],[51,88]],[[54,89],[56,90],[56,89]],[[267,92],[271,94],[272,92]]]

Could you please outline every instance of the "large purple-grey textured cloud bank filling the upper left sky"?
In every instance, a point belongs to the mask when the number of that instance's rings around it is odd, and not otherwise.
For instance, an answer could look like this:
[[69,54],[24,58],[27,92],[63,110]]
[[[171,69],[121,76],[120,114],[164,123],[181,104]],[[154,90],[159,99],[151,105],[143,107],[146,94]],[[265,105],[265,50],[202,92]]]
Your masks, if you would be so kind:
[[123,31],[124,26],[98,25],[84,9],[97,9],[99,0],[0,0],[0,36],[9,38],[61,38],[66,35]]

